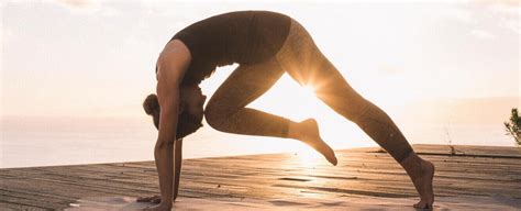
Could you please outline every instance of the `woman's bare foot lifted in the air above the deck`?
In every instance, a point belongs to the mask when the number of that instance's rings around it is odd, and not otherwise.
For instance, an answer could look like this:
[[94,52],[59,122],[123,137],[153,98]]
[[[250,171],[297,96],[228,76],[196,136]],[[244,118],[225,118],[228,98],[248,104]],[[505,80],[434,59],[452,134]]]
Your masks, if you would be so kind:
[[320,137],[319,125],[314,119],[290,125],[289,137],[300,140],[322,154],[328,162],[336,166],[337,160],[334,151]]

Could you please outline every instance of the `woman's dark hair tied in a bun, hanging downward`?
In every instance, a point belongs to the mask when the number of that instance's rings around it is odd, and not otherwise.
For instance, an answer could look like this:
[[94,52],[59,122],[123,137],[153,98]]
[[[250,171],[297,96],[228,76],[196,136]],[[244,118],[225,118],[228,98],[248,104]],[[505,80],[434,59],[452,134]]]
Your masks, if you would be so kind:
[[[181,103],[182,106],[184,103]],[[157,96],[151,93],[146,97],[145,101],[143,102],[143,109],[145,109],[145,113],[152,115],[154,120],[154,125],[156,129],[159,129],[159,116],[160,116],[160,107],[159,101],[157,100]],[[185,111],[187,109],[184,109]],[[189,134],[196,132],[199,127],[201,127],[201,121],[198,121],[198,118],[191,115],[189,112],[181,112],[179,113],[179,118],[177,121],[177,134],[176,138],[182,138]]]

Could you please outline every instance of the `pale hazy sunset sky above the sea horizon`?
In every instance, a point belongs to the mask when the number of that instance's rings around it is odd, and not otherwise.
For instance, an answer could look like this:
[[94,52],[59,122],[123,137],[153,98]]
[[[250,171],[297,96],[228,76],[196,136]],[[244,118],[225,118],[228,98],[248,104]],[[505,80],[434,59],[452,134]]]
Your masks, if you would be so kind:
[[[400,120],[424,109],[440,119],[446,110],[480,104],[479,114],[498,121],[521,104],[518,1],[59,0],[0,7],[1,114],[8,116],[143,116],[142,100],[155,92],[155,62],[169,38],[235,10],[298,20],[358,92]],[[235,67],[219,68],[202,82],[203,92],[211,96]],[[319,104],[285,75],[251,106],[303,119]]]

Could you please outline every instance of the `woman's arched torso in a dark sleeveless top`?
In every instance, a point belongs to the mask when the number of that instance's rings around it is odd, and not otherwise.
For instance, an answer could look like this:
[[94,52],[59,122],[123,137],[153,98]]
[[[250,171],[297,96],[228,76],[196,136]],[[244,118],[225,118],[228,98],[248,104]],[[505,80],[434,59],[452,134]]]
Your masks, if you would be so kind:
[[215,67],[258,63],[274,56],[286,41],[291,19],[268,11],[240,11],[219,14],[179,31],[192,60],[185,84],[199,84]]

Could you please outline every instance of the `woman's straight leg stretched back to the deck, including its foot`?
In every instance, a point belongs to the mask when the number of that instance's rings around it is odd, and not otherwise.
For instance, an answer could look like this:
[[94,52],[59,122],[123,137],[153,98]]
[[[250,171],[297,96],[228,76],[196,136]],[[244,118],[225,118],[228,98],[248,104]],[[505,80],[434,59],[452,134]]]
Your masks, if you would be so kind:
[[421,201],[417,206],[432,206],[434,166],[415,155],[386,112],[347,84],[299,23],[292,22],[290,35],[276,57],[293,79],[301,85],[312,86],[318,98],[356,123],[403,166],[420,193]]

